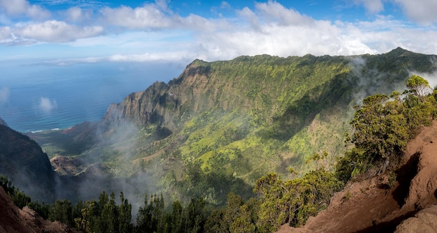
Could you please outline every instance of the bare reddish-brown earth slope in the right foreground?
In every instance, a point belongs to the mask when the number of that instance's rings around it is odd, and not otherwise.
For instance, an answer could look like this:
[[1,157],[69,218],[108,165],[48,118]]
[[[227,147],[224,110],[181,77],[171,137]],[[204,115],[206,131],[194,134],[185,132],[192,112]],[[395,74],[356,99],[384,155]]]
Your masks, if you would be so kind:
[[349,183],[302,228],[279,232],[437,232],[437,121],[409,142],[397,182],[387,175]]

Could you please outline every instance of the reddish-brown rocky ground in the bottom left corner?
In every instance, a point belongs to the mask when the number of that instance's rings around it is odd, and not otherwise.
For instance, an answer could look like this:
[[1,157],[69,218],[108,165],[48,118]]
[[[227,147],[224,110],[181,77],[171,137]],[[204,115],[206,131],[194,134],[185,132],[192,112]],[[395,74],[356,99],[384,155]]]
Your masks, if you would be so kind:
[[0,187],[0,233],[61,233],[77,232],[68,229],[66,225],[58,221],[50,222],[38,216],[38,213],[24,206],[18,209],[13,201],[6,195],[3,188]]

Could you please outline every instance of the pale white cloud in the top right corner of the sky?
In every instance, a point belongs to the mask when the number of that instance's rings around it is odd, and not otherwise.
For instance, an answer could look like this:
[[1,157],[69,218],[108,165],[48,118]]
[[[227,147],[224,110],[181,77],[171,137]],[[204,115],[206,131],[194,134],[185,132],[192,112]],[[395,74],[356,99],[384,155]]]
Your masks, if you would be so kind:
[[437,1],[435,0],[394,0],[411,20],[420,24],[434,24],[437,22]]

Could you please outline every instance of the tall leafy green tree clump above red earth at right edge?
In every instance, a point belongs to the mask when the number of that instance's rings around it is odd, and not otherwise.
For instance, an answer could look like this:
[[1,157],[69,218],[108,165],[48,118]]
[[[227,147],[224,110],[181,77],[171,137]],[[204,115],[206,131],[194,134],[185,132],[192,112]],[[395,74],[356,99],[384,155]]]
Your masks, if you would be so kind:
[[348,181],[369,167],[376,166],[379,172],[396,167],[407,142],[436,118],[434,95],[422,96],[425,87],[429,88],[428,81],[413,75],[407,87],[412,91],[364,98],[350,122],[353,126],[350,141],[355,148],[347,151],[336,165],[340,180]]

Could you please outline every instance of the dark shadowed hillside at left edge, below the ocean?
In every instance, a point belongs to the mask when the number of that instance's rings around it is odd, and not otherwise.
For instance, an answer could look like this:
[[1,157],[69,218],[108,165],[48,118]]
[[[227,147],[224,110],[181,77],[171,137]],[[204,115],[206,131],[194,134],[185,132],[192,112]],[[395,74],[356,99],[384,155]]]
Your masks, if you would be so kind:
[[34,200],[54,199],[56,173],[47,154],[26,135],[0,125],[0,174]]

